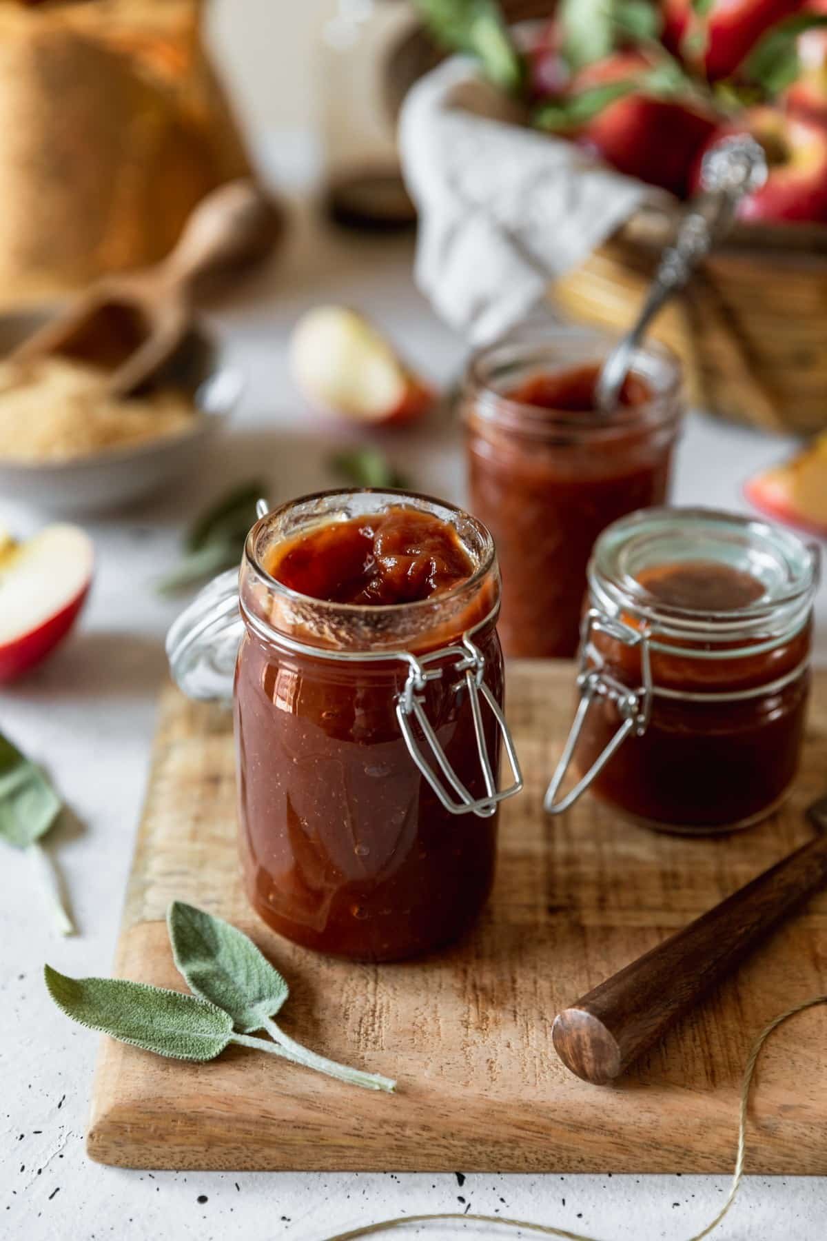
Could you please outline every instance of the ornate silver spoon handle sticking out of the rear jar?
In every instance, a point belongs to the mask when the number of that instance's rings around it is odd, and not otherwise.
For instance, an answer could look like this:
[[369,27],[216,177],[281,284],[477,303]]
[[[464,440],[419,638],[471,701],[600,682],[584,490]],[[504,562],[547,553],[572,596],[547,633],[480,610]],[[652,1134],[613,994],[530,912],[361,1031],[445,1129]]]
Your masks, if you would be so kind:
[[724,138],[707,151],[701,165],[702,192],[687,208],[674,242],[663,251],[635,325],[603,364],[594,388],[600,413],[611,413],[617,407],[635,350],[657,311],[688,283],[701,259],[729,231],[744,195],[765,181],[764,148],[749,134]]

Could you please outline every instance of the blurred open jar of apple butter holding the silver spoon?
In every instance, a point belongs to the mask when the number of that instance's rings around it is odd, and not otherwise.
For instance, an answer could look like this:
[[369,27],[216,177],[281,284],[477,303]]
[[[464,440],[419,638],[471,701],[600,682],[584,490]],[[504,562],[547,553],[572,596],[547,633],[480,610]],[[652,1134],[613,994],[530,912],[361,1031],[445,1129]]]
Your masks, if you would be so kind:
[[593,400],[605,356],[595,336],[526,333],[469,366],[470,508],[497,547],[507,655],[573,656],[598,535],[667,496],[679,364],[657,345],[640,349],[606,416]]

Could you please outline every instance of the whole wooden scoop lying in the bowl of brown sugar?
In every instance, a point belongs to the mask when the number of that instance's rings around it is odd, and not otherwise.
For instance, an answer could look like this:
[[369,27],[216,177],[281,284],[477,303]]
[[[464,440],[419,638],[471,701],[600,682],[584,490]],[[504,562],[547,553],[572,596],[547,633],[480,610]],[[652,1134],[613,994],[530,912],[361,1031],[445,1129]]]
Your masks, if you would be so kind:
[[190,335],[196,299],[267,258],[283,228],[280,208],[252,181],[222,185],[198,204],[162,262],[98,280],[11,357],[92,362],[112,371],[114,396],[133,396]]

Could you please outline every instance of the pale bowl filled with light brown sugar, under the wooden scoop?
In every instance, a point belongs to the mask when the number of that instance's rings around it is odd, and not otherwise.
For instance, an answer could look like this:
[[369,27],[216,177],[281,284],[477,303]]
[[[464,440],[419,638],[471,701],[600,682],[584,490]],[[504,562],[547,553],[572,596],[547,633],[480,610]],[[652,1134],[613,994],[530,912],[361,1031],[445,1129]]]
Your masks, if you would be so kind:
[[0,315],[0,498],[62,514],[114,510],[192,469],[242,391],[211,336],[196,329],[146,392],[122,400],[88,362],[7,356],[46,318]]

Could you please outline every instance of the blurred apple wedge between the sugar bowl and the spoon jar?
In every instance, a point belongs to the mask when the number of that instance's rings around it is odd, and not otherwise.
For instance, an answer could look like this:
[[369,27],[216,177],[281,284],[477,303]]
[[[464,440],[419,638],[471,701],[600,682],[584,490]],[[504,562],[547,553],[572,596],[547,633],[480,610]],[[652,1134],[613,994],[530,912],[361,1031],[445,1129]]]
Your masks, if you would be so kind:
[[293,329],[290,365],[311,405],[355,422],[410,422],[434,403],[433,388],[348,307],[316,307],[303,315]]

